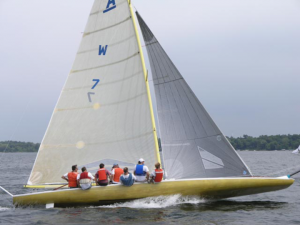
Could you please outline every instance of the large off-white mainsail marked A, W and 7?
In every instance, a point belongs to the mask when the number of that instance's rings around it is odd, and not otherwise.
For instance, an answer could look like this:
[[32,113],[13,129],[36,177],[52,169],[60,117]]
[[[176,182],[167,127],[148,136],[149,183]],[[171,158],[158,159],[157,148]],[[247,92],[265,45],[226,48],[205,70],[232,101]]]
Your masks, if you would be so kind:
[[132,15],[127,0],[95,0],[28,184],[61,182],[74,164],[92,171],[100,162],[159,161]]

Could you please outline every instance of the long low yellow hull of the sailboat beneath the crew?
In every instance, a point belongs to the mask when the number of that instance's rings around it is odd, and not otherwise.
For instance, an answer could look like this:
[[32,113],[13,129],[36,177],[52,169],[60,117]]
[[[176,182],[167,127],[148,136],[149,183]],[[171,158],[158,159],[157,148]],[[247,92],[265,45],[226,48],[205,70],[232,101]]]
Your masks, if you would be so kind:
[[159,184],[136,183],[131,187],[109,185],[90,190],[67,189],[13,196],[15,205],[50,204],[101,205],[132,199],[161,195],[181,194],[202,198],[229,198],[281,190],[294,183],[294,179],[282,178],[211,178],[163,181]]

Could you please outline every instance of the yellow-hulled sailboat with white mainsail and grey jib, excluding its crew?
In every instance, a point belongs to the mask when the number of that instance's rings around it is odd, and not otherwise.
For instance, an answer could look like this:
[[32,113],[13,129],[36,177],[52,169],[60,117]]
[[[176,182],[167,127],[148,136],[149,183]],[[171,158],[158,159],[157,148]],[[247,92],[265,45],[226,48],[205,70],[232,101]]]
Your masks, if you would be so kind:
[[[136,18],[149,56],[156,109]],[[289,176],[253,177],[141,15],[135,15],[131,1],[95,0],[25,187],[60,187],[60,177],[74,164],[96,172],[100,163],[106,168],[118,163],[132,172],[141,157],[150,168],[162,162],[164,181],[12,195],[13,203],[103,204],[174,194],[229,198],[294,182]]]

